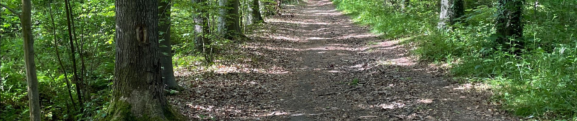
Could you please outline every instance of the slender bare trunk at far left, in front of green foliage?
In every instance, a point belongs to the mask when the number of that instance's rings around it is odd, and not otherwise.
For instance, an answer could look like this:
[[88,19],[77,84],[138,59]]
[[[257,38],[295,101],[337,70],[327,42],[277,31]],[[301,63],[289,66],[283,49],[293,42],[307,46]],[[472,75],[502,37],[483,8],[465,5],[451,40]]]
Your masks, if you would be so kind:
[[32,3],[30,0],[22,0],[22,38],[24,41],[24,64],[26,68],[26,80],[28,81],[28,104],[30,108],[30,120],[40,121],[40,100],[38,97],[38,77],[36,77],[36,63],[34,63],[34,38],[32,37],[31,20]]

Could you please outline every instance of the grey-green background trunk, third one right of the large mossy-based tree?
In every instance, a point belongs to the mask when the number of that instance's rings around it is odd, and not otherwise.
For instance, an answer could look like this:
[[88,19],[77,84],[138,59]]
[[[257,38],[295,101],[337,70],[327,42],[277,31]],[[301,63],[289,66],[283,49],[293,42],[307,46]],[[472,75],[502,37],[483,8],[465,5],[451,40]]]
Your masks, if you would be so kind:
[[224,38],[233,40],[236,36],[242,36],[239,21],[239,0],[219,0],[220,9],[218,18],[218,33]]

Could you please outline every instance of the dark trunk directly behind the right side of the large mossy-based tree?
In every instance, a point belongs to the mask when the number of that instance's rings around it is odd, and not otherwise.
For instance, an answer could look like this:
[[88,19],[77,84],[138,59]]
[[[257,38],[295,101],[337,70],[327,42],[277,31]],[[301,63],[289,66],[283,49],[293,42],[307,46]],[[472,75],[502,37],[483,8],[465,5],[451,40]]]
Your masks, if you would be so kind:
[[160,65],[162,65],[162,81],[164,83],[165,89],[173,89],[181,91],[182,88],[178,85],[176,79],[174,79],[173,71],[173,50],[170,40],[170,8],[172,4],[170,0],[159,1],[158,3],[158,13],[159,18],[159,37],[160,38]]

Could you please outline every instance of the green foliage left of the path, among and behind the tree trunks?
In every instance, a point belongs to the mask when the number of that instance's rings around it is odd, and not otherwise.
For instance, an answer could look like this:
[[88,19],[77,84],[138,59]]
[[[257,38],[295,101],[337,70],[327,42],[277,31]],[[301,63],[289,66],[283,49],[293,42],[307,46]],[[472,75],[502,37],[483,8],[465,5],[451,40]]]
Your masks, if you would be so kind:
[[[184,67],[198,65],[200,60],[211,60],[224,50],[230,40],[215,34],[218,1],[207,0],[204,4],[175,0],[171,2],[171,37],[174,65]],[[21,1],[1,1],[2,5],[20,11]],[[241,3],[249,3],[243,0]],[[263,1],[263,11],[276,11],[274,1]],[[107,115],[110,105],[111,85],[115,55],[115,6],[114,0],[71,1],[73,43],[76,52],[70,52],[70,40],[64,1],[33,1],[32,30],[35,37],[35,58],[38,69],[40,106],[43,120],[95,120]],[[241,5],[243,6],[243,5]],[[244,8],[244,7],[243,7]],[[204,12],[198,12],[204,11]],[[241,15],[246,14],[241,9]],[[28,120],[27,82],[25,80],[23,43],[20,19],[12,11],[0,7],[0,121]],[[194,16],[207,18],[209,33],[194,33]],[[244,24],[243,24],[244,25]],[[246,26],[245,26],[246,27]],[[244,30],[247,30],[246,28]],[[159,33],[164,34],[164,33]],[[204,36],[211,42],[206,52],[195,49],[194,37]],[[59,54],[59,57],[57,57]],[[75,58],[72,58],[75,54]],[[77,64],[73,65],[72,60]],[[60,65],[62,61],[62,65]],[[86,85],[77,87],[72,67],[78,68],[78,76]],[[66,77],[65,76],[66,73]],[[67,83],[70,82],[70,88]],[[78,101],[77,89],[84,92],[83,104]],[[72,100],[70,99],[72,95]],[[176,91],[168,91],[177,93]],[[74,102],[75,104],[73,104]],[[74,105],[74,106],[73,106]]]

